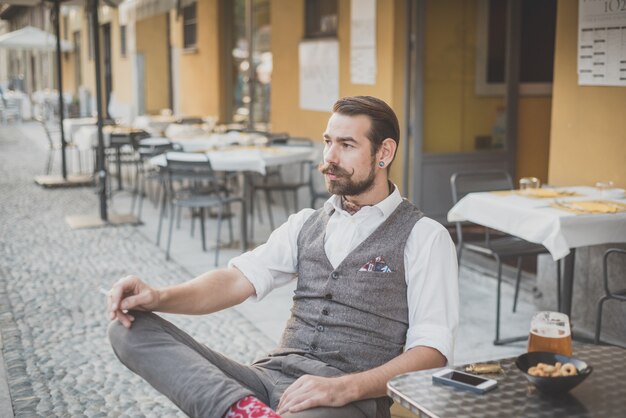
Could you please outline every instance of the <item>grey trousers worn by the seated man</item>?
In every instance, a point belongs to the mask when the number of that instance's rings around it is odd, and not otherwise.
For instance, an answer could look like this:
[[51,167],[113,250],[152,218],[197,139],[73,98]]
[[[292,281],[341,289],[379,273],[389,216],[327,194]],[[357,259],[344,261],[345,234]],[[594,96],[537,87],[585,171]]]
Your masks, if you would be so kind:
[[[198,343],[165,319],[133,311],[130,329],[118,321],[109,326],[115,355],[192,417],[220,418],[239,399],[252,395],[276,409],[280,396],[305,374],[342,374],[318,360],[290,354],[242,365]],[[367,399],[341,408],[312,408],[284,418],[382,418],[389,416],[386,398]]]

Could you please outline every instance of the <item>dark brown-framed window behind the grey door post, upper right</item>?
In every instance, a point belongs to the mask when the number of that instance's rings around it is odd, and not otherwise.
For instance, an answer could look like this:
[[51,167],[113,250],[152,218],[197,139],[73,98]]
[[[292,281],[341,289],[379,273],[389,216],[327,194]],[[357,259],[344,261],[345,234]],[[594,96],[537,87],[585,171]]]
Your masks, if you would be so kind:
[[[506,4],[478,3],[476,93],[504,94]],[[556,0],[523,0],[520,39],[520,93],[545,95],[552,90]]]

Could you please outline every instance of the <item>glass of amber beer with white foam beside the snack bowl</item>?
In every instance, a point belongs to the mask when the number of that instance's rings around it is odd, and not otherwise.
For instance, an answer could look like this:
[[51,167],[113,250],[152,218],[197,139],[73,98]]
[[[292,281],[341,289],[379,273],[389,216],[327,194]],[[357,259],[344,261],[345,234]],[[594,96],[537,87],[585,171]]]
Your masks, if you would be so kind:
[[530,322],[528,351],[572,355],[572,334],[567,315],[559,312],[538,312]]

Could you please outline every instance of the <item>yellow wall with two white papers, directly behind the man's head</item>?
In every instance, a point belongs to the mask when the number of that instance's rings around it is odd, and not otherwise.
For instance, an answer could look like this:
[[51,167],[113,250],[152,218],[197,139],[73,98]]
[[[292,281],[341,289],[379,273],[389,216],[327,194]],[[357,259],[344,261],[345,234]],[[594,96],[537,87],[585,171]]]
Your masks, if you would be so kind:
[[[376,23],[376,84],[350,82],[350,1],[340,0],[338,11],[339,96],[371,95],[394,108],[402,124],[404,68],[404,16],[401,0],[378,1]],[[321,140],[330,116],[328,112],[301,110],[299,100],[298,45],[304,34],[304,1],[271,2],[272,54],[272,130]],[[402,126],[402,125],[401,125]],[[401,140],[402,143],[402,140]],[[394,181],[401,180],[402,156],[392,166]]]

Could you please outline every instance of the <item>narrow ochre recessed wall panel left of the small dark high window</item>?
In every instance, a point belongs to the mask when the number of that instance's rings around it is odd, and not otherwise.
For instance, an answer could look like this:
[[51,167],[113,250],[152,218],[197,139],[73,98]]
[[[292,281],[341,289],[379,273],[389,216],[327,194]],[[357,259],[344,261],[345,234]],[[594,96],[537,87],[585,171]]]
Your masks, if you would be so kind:
[[[163,13],[136,22],[137,54],[144,57],[145,113],[159,114],[170,107],[167,19]],[[140,75],[141,77],[141,75]]]

